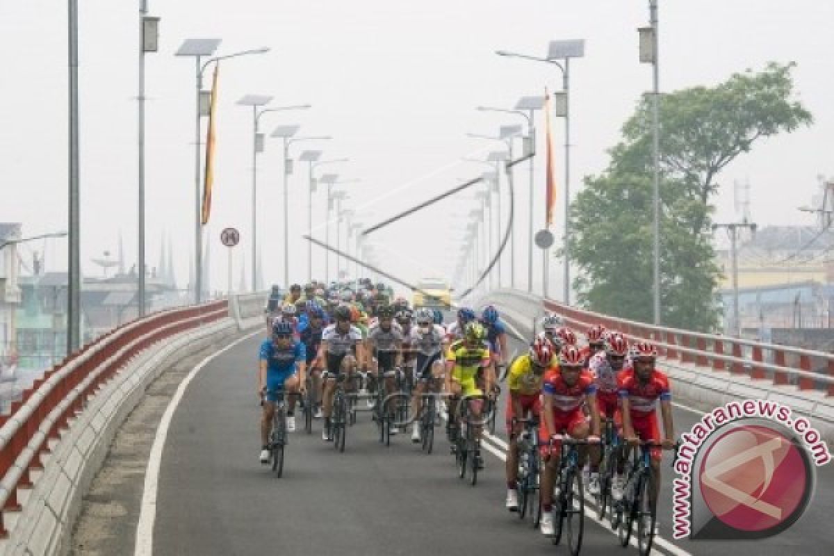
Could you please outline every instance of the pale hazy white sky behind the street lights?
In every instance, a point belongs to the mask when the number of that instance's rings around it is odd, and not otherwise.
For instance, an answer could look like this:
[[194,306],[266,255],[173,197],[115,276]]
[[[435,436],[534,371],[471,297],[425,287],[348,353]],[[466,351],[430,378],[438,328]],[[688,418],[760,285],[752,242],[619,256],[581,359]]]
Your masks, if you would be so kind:
[[[106,249],[115,251],[120,230],[128,264],[136,253],[139,0],[79,4],[82,257],[85,271],[92,273],[89,259]],[[207,235],[214,243],[212,285],[217,289],[226,286],[221,228],[241,229],[244,242],[236,263],[245,250],[249,264],[252,118],[248,108],[235,104],[245,93],[274,95],[276,106],[313,105],[306,112],[266,114],[262,130],[269,133],[278,124],[297,123],[300,134],[332,135],[329,142],[297,143],[291,154],[320,148],[324,158],[351,158],[319,173],[362,180],[346,186],[352,199],[344,207],[373,213],[362,218],[369,224],[486,169],[460,163],[460,157],[485,156],[500,143],[466,138],[465,133],[493,135],[498,126],[522,120],[479,113],[475,106],[511,108],[521,96],[543,93],[545,85],[560,88],[555,68],[500,58],[496,49],[544,56],[552,39],[586,39],[585,58],[571,65],[574,192],[583,176],[605,168],[605,149],[616,142],[636,99],[651,87],[651,66],[637,58],[636,28],[648,20],[646,0],[149,4],[150,13],[162,18],[162,33],[159,52],[147,58],[148,263],[158,262],[161,234],[172,234],[181,282],[193,249],[194,68],[191,58],[175,58],[173,53],[183,38],[222,38],[219,53],[272,48],[269,54],[231,60],[220,69],[218,173]],[[721,175],[717,218],[735,218],[732,183],[749,180],[751,213],[758,223],[812,223],[795,207],[810,202],[818,174],[834,175],[834,3],[661,0],[660,14],[664,91],[713,85],[770,60],[799,64],[794,74],[797,96],[813,113],[815,125],[758,143],[753,153],[733,163]],[[0,220],[23,222],[25,235],[64,229],[66,3],[0,3],[0,52]],[[543,139],[540,114],[537,126]],[[561,187],[560,119],[555,128]],[[259,157],[259,241],[268,282],[283,276],[280,158],[278,140],[269,140]],[[544,218],[544,158],[535,163],[538,229]],[[516,236],[516,284],[522,285],[528,178],[526,168],[516,174],[516,214],[525,224]],[[297,164],[290,178],[290,277],[299,281],[306,277],[306,248],[300,239],[306,229],[306,176],[306,165]],[[443,203],[375,234],[383,263],[408,278],[450,273],[470,208],[465,201]],[[316,223],[322,223],[321,190],[314,214]],[[561,227],[561,218],[557,224]],[[320,236],[321,228],[316,234]],[[66,241],[51,243],[48,267],[64,268]],[[317,276],[323,270],[320,253],[314,249]],[[537,279],[539,273],[537,267]],[[560,288],[560,275],[554,265],[551,291]],[[238,268],[234,277],[237,285]]]

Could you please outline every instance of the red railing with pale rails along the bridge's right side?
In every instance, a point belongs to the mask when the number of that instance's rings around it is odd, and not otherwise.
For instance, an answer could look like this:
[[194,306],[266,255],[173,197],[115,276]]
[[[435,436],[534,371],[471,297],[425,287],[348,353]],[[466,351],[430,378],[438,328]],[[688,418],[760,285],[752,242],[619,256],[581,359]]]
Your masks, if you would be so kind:
[[605,328],[619,330],[631,340],[651,340],[657,345],[659,354],[667,360],[834,396],[834,354],[831,353],[638,323],[542,300],[515,290],[496,293],[525,303],[537,303],[543,310],[559,314],[570,328],[578,332],[601,324]]

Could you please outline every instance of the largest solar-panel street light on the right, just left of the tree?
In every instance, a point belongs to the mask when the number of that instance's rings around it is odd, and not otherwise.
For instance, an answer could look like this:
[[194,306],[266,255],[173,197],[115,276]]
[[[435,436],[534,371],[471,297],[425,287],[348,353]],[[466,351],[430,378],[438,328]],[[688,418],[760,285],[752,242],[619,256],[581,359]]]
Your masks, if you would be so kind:
[[[570,213],[570,58],[582,58],[585,56],[585,39],[575,39],[569,41],[550,41],[548,46],[547,58],[537,58],[535,56],[527,56],[526,54],[510,53],[505,50],[495,52],[499,56],[507,56],[510,58],[524,58],[526,60],[533,60],[534,62],[544,62],[553,64],[559,68],[562,73],[562,95],[556,97],[556,116],[565,118],[565,238],[563,248],[565,251],[565,287],[563,297],[565,304],[570,305],[570,249],[568,242],[570,240],[570,224],[568,223],[568,215]],[[563,110],[560,110],[563,108]],[[562,113],[558,113],[561,111]],[[550,260],[547,258],[547,251],[545,250],[545,274],[546,267],[550,266]],[[546,288],[546,284],[545,284]]]

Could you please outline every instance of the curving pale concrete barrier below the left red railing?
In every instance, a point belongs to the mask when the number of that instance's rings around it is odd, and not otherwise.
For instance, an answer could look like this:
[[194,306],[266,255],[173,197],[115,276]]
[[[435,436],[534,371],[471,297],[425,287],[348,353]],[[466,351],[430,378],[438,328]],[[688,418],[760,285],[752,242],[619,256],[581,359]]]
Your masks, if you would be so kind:
[[[265,296],[256,297],[233,303],[236,313],[230,312],[229,318],[179,333],[138,353],[85,400],[83,411],[60,440],[50,443],[51,453],[43,457],[43,471],[33,476],[33,486],[18,489],[22,509],[5,514],[8,538],[0,540],[0,556],[68,553],[83,495],[118,428],[150,383],[179,359],[263,325]],[[258,303],[260,314],[255,317]]]

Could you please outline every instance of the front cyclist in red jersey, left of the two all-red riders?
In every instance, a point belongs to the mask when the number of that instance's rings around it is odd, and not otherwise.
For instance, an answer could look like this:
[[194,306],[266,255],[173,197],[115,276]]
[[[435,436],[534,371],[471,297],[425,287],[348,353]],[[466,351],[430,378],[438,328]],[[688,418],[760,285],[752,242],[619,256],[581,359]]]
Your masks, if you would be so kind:
[[[562,348],[559,355],[558,371],[547,373],[542,385],[542,415],[540,426],[542,457],[547,462],[541,479],[541,532],[547,536],[554,533],[552,510],[553,486],[560,468],[561,446],[558,441],[550,450],[550,438],[563,431],[577,440],[600,435],[600,412],[596,407],[596,385],[594,377],[582,368],[582,354],[573,345]],[[590,426],[582,404],[590,408]],[[586,450],[580,450],[580,468],[585,461]]]

